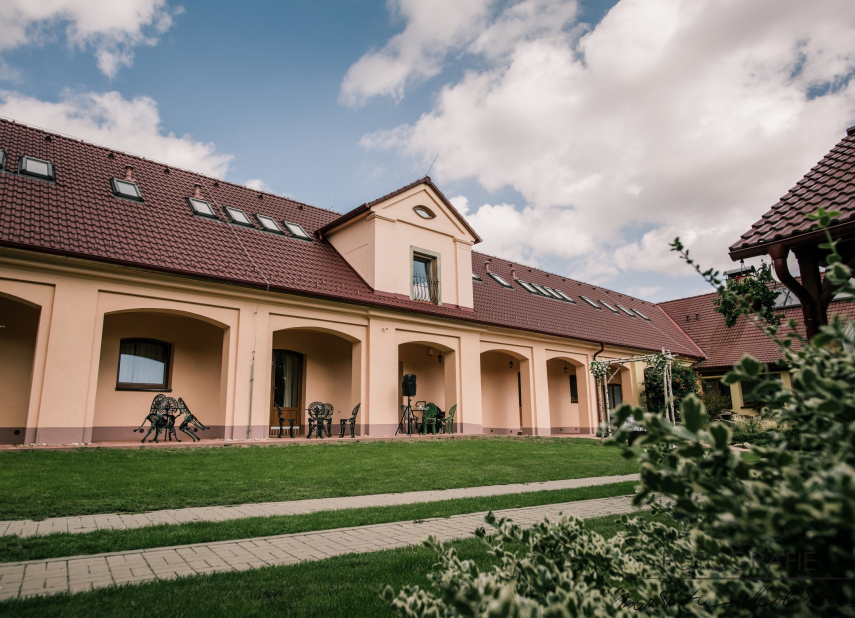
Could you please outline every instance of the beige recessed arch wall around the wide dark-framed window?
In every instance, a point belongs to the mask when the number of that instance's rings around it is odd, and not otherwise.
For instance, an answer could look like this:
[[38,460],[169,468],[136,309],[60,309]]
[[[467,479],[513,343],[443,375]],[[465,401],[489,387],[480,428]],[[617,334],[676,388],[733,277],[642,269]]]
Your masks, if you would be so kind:
[[[172,345],[169,397],[184,400],[210,430],[200,437],[225,436],[225,399],[220,388],[226,332],[208,322],[169,313],[130,312],[104,316],[98,390],[95,396],[92,440],[142,439],[139,427],[157,392],[116,389],[119,344],[122,339],[144,338]],[[178,435],[179,439],[187,439]]]

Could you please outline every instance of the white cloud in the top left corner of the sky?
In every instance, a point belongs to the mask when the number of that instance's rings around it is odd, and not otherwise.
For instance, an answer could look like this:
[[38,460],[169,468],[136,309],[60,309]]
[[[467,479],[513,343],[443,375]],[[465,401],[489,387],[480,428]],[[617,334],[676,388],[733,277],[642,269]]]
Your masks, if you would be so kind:
[[113,78],[133,63],[133,49],[154,45],[183,13],[166,0],[3,0],[0,2],[0,52],[40,45],[65,25],[68,45],[92,48],[98,68]]

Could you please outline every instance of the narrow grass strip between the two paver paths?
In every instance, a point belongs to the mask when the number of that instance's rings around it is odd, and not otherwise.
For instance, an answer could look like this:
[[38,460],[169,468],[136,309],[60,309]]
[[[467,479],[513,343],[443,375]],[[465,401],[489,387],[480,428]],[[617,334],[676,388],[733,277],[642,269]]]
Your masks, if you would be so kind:
[[134,549],[152,549],[195,543],[213,543],[280,534],[350,528],[395,521],[450,517],[464,513],[576,502],[594,498],[626,496],[635,492],[636,481],[593,485],[573,489],[458,498],[437,502],[316,511],[305,515],[248,517],[222,522],[192,522],[145,526],[130,530],[98,530],[81,534],[0,537],[0,564],[25,560],[47,560]]

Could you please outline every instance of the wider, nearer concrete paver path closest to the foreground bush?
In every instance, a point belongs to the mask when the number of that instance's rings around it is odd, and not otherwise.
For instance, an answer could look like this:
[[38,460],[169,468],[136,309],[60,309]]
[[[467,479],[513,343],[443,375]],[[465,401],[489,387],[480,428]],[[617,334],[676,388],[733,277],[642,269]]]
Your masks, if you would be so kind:
[[[560,512],[581,518],[629,513],[632,511],[631,500],[631,496],[599,498],[505,509],[495,511],[495,514],[530,526],[544,517],[556,520]],[[449,518],[0,564],[0,600],[394,549],[416,544],[430,534],[443,541],[460,539],[473,536],[476,528],[484,526],[484,515],[470,513]]]

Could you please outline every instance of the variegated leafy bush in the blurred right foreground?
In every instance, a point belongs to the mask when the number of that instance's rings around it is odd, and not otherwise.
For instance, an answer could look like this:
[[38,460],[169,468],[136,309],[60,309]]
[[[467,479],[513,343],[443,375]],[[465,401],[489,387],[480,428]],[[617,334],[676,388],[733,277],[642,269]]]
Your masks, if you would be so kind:
[[[829,247],[827,276],[855,291]],[[750,312],[750,303],[736,304]],[[730,449],[731,430],[710,423],[694,395],[677,426],[629,405],[615,410],[612,442],[640,461],[633,503],[674,527],[624,518],[626,530],[605,540],[571,517],[523,530],[488,516],[492,535],[480,536],[499,567],[482,572],[431,539],[434,590],[387,587],[387,601],[413,617],[855,616],[855,353],[845,351],[855,337],[835,318],[793,352],[777,327],[766,331],[781,346],[792,392],[750,357],[725,376],[759,381],[770,416],[793,428],[754,447],[757,461]],[[647,429],[633,447],[622,429],[630,416]],[[514,544],[525,549],[505,549]]]

